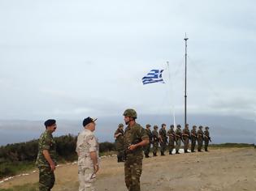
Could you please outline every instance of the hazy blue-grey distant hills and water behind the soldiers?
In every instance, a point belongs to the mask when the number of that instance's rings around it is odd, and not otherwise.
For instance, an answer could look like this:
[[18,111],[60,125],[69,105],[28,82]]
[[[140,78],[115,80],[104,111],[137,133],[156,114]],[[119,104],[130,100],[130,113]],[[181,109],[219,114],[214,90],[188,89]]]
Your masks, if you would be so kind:
[[[145,126],[160,126],[162,123],[167,124],[167,129],[172,123],[172,117],[167,115],[145,115],[139,116],[137,122]],[[207,116],[207,115],[189,115],[189,128],[192,125],[203,125],[210,127],[210,137],[212,143],[223,142],[244,142],[255,143],[256,122],[246,120],[241,117],[233,116]],[[113,134],[117,125],[124,123],[124,117],[98,117],[96,134],[100,142],[114,142]],[[176,124],[184,124],[183,116],[176,116]],[[54,136],[63,134],[77,135],[82,129],[81,120],[57,120],[58,129]],[[6,121],[0,120],[0,145],[6,145],[13,142],[24,142],[33,138],[38,138],[45,130],[43,121]]]

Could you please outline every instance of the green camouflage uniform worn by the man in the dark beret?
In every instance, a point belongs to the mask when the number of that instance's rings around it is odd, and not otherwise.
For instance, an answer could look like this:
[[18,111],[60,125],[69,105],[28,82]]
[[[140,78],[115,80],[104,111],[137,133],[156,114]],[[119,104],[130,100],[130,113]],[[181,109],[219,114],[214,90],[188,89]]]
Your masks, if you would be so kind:
[[54,141],[53,135],[48,130],[41,134],[39,138],[36,164],[39,168],[39,190],[49,191],[54,187],[55,176],[54,171],[50,168],[50,163],[48,163],[43,155],[44,150],[49,152],[50,158],[54,161],[55,165],[57,165],[56,142]]

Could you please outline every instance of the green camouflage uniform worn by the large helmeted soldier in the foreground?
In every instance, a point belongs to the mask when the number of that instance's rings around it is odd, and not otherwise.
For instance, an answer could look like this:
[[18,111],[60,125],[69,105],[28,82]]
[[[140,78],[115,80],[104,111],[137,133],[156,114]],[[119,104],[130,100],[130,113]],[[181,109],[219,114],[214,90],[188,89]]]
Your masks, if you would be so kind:
[[[128,146],[137,144],[142,140],[149,139],[145,129],[141,125],[135,123],[129,126],[124,131],[124,145]],[[142,172],[142,147],[137,147],[135,150],[126,150],[126,160],[124,162],[125,184],[129,191],[140,191],[140,177]]]

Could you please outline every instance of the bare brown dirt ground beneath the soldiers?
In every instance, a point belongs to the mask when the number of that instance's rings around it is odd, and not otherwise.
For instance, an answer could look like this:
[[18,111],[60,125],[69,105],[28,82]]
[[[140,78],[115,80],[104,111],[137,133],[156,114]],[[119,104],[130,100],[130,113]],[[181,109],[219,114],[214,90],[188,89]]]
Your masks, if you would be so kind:
[[[143,159],[141,191],[255,191],[255,154],[254,148],[224,148]],[[55,176],[53,191],[78,190],[76,164],[60,166]],[[0,184],[0,189],[37,181],[38,172],[34,172],[7,180]],[[99,191],[127,190],[124,184],[124,163],[117,163],[115,157],[102,159],[96,187]]]

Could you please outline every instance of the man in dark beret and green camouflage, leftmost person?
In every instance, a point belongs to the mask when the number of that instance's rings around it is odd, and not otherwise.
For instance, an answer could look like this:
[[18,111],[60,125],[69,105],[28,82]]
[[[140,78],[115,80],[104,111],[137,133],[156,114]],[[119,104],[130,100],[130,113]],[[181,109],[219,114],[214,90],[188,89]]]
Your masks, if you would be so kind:
[[56,142],[52,133],[57,128],[53,119],[45,121],[46,131],[38,141],[37,167],[39,168],[39,191],[49,191],[54,187],[56,168]]

